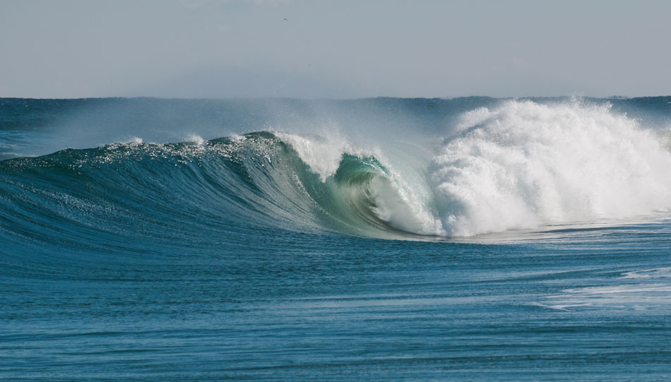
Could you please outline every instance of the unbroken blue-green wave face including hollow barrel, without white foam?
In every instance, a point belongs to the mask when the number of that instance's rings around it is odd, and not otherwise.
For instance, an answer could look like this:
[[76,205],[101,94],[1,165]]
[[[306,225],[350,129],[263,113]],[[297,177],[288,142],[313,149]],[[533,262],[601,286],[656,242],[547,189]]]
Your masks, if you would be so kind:
[[5,160],[0,172],[5,233],[46,243],[58,238],[66,247],[99,248],[119,237],[211,242],[264,229],[386,238],[439,233],[416,221],[421,212],[376,157],[344,154],[323,177],[268,132],[69,149]]

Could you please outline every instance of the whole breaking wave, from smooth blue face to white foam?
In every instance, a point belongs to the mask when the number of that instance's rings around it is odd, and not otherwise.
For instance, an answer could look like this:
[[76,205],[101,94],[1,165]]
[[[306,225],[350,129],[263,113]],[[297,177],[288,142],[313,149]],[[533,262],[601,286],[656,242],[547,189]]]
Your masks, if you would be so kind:
[[432,118],[441,122],[403,143],[391,132],[256,131],[4,160],[0,232],[91,248],[268,229],[423,239],[671,206],[667,130],[609,103],[488,100]]

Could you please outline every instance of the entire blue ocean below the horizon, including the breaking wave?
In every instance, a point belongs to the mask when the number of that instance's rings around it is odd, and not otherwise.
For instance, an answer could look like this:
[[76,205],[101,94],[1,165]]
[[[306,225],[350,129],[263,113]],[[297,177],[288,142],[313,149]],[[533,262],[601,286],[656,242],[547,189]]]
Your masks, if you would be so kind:
[[671,97],[0,99],[0,379],[671,378]]

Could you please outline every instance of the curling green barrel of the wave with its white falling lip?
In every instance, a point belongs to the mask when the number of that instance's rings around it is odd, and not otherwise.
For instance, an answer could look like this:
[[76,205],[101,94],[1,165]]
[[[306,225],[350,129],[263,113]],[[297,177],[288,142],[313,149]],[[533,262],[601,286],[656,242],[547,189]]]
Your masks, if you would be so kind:
[[[373,237],[444,236],[428,186],[408,183],[409,174],[394,169],[380,150],[355,148],[338,136],[275,134],[317,175],[309,181],[316,185],[307,188],[314,190],[310,198],[340,229]],[[404,157],[396,159],[405,162]]]

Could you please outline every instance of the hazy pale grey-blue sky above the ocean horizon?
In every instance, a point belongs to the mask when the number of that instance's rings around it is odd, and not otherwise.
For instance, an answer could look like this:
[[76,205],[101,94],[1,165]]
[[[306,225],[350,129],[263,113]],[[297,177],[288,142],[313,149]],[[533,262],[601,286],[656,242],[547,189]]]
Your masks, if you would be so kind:
[[670,15],[665,0],[0,0],[0,97],[671,95]]

